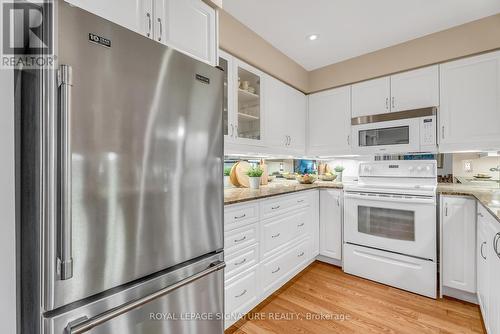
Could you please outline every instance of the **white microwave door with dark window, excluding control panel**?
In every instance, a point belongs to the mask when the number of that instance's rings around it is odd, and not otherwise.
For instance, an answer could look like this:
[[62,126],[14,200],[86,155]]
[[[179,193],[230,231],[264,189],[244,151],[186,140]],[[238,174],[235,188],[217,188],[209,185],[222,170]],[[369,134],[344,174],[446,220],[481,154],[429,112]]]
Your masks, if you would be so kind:
[[420,151],[419,118],[353,125],[356,153],[401,153]]

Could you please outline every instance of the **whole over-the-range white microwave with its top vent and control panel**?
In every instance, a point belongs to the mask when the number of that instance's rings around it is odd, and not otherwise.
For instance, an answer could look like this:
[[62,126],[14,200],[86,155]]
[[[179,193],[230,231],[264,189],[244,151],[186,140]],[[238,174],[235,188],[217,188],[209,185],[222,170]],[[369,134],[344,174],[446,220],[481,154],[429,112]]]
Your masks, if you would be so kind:
[[422,108],[351,120],[357,154],[437,151],[437,108]]

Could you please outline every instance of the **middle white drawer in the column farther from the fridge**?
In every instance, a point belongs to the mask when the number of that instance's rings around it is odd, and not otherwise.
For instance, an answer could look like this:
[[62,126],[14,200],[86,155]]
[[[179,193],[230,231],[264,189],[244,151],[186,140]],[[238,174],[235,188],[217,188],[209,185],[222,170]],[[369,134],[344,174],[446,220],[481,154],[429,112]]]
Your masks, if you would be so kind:
[[285,245],[287,242],[309,234],[309,212],[302,210],[276,217],[261,227],[263,257]]

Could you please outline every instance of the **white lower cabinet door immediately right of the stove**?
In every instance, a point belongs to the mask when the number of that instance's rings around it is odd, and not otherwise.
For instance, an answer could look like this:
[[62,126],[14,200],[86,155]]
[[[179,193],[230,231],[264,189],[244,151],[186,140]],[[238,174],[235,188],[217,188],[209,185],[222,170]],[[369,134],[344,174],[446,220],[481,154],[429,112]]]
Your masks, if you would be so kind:
[[476,293],[476,200],[443,197],[443,285]]

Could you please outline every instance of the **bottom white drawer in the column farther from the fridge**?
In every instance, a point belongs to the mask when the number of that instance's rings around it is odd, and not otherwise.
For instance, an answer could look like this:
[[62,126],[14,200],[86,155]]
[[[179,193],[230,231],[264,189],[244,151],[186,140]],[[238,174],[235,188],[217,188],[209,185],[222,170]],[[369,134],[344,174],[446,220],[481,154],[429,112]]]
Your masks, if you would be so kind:
[[275,290],[289,279],[293,269],[310,259],[311,239],[307,238],[261,265],[262,290]]

